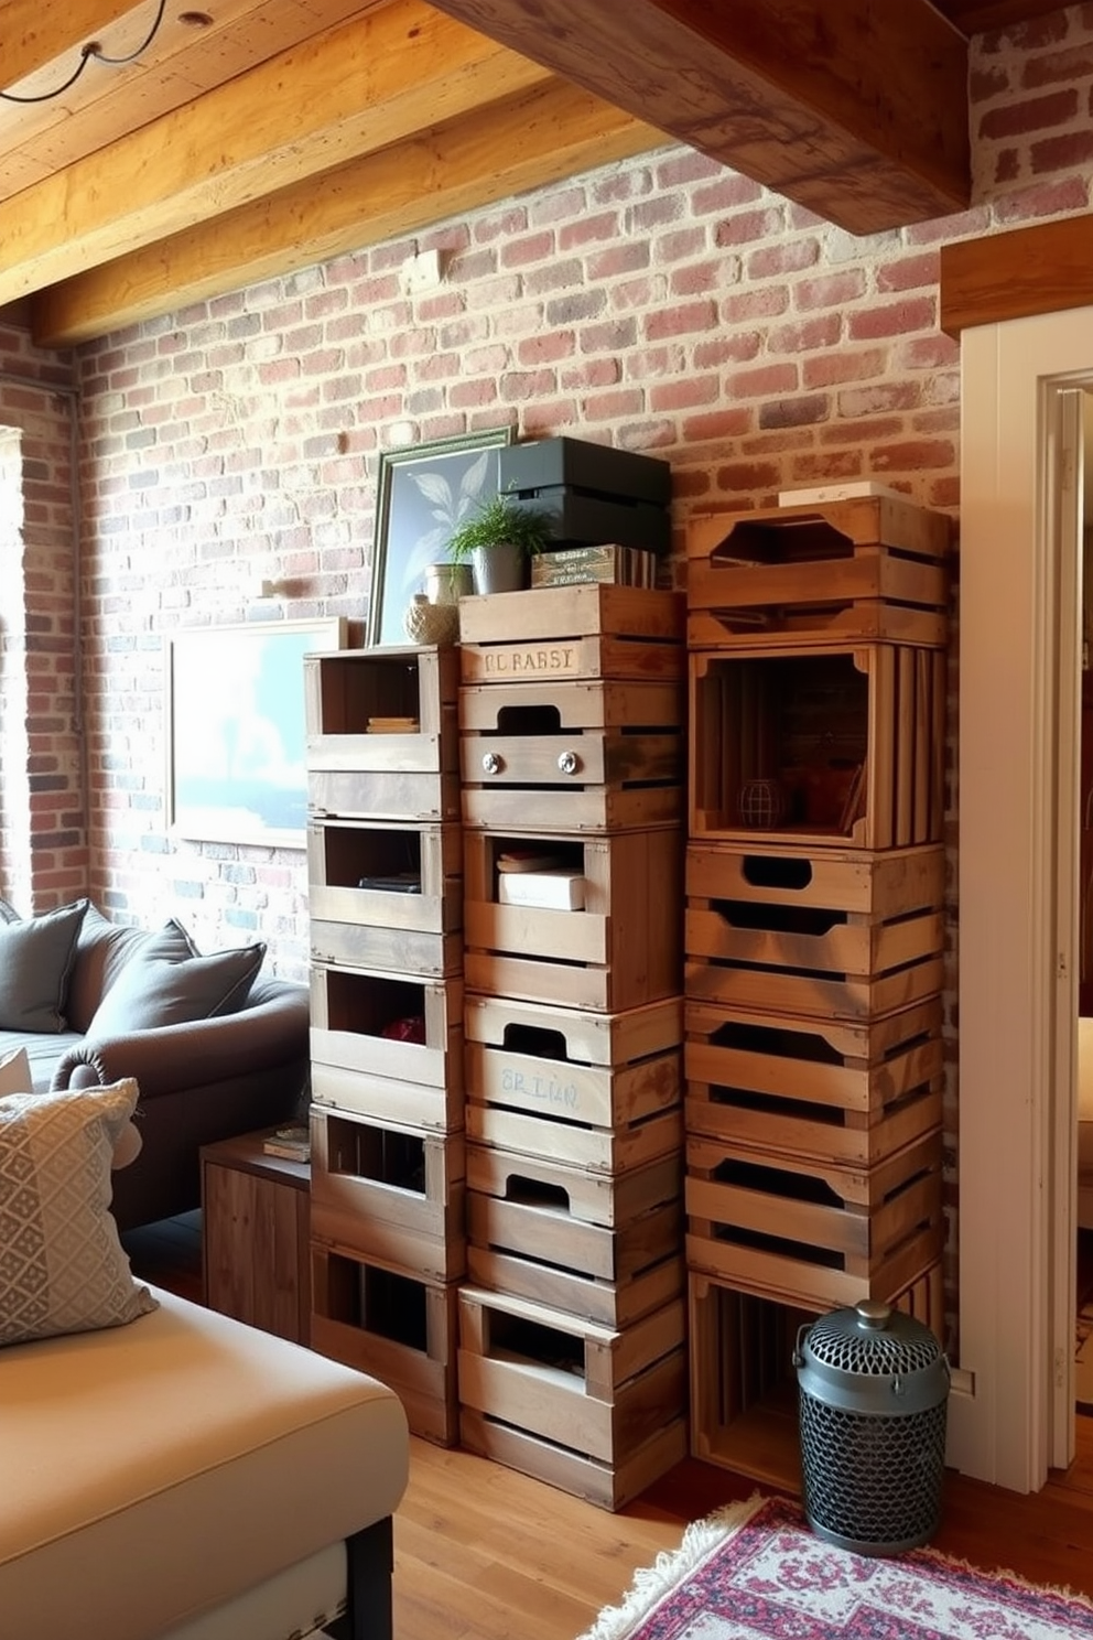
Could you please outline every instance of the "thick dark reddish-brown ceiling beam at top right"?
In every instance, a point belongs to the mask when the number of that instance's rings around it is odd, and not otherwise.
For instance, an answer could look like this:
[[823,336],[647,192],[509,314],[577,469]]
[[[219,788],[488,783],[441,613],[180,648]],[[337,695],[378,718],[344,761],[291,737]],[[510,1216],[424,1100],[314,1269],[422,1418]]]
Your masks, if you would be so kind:
[[436,0],[850,233],[970,198],[967,39],[927,0]]

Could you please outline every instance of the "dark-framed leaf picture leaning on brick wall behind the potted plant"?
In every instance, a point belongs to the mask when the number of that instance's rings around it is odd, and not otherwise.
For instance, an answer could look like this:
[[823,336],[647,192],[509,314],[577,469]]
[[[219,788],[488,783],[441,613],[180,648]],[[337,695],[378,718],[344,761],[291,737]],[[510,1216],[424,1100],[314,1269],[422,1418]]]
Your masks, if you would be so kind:
[[403,615],[424,590],[429,564],[447,563],[447,543],[480,502],[497,495],[500,451],[515,428],[460,433],[380,453],[369,594],[369,645],[408,643]]

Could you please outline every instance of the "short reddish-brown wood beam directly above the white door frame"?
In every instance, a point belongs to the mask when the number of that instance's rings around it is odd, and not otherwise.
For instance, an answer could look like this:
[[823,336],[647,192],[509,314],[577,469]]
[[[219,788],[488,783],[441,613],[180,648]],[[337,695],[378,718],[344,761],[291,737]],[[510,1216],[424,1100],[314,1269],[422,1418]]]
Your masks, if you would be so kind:
[[1039,221],[941,248],[941,328],[1093,307],[1093,216]]

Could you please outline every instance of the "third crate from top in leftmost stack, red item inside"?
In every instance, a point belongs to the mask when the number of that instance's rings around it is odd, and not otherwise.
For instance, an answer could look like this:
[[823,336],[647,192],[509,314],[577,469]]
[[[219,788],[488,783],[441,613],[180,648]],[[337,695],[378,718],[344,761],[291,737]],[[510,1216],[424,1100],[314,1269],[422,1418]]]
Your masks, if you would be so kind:
[[462,1128],[462,1000],[460,979],[313,964],[313,1100],[380,1122]]

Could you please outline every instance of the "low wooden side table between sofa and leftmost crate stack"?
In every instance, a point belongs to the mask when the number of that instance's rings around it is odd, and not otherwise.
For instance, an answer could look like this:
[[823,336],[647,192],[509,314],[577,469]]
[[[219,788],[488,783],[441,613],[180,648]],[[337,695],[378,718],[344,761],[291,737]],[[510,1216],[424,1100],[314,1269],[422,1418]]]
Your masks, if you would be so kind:
[[211,1310],[308,1343],[308,1163],[269,1156],[272,1128],[202,1146],[202,1271]]

